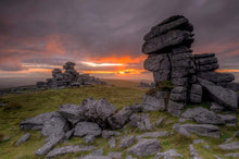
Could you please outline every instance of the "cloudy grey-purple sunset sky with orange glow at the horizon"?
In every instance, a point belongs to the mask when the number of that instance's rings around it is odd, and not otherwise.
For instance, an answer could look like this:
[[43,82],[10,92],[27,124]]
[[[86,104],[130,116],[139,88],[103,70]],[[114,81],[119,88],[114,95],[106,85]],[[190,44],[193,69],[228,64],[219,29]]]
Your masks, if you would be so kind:
[[50,77],[72,61],[98,77],[150,80],[142,38],[175,14],[194,26],[193,53],[239,72],[238,0],[1,0],[0,78]]

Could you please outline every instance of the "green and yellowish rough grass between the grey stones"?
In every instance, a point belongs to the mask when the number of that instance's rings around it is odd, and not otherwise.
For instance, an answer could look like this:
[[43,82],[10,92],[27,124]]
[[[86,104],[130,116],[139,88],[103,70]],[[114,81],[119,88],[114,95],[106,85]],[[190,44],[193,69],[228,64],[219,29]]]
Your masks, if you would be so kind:
[[[15,142],[24,135],[26,132],[20,130],[18,123],[26,119],[35,117],[39,113],[55,111],[59,105],[63,103],[75,103],[80,105],[81,100],[88,97],[96,99],[106,98],[109,102],[113,103],[117,108],[123,108],[127,105],[133,105],[135,102],[141,102],[141,96],[147,91],[147,88],[139,88],[138,83],[128,81],[111,81],[108,80],[111,86],[87,86],[81,88],[67,88],[61,90],[42,90],[38,93],[33,93],[28,95],[17,95],[17,96],[5,96],[4,101],[9,101],[9,107],[3,109],[0,108],[0,136],[9,136],[10,138],[5,142],[0,143],[0,158],[1,159],[33,159],[40,158],[36,157],[34,151],[40,148],[45,143],[45,137],[41,137],[40,132],[29,131],[32,137],[29,140],[15,146]],[[172,132],[172,126],[177,123],[178,119],[174,118],[166,112],[152,112],[150,113],[151,122],[153,123],[161,117],[164,117],[164,122],[159,126],[154,127],[154,131],[168,131]],[[169,124],[165,124],[166,121],[172,121]],[[189,144],[192,143],[194,138],[202,138],[205,144],[194,145],[194,148],[199,151],[200,157],[204,159],[213,159],[214,155],[224,157],[226,151],[218,149],[217,145],[225,142],[226,138],[232,136],[235,131],[238,131],[239,126],[227,127],[221,126],[222,137],[221,139],[200,137],[193,135],[191,138],[186,138],[178,134],[174,134],[168,137],[160,137],[162,144],[162,151],[171,148],[175,148],[178,152],[184,155],[185,158],[190,158],[189,156]],[[141,134],[137,129],[130,129],[128,125],[125,131],[120,131],[122,136],[127,132],[127,134]],[[0,138],[1,139],[1,138]],[[122,151],[123,156],[126,157],[126,149],[110,149],[108,144],[109,139],[102,139],[98,137],[93,145],[101,148],[103,147],[104,155],[109,151]],[[239,139],[234,139],[239,140]],[[83,139],[79,137],[73,137],[70,140],[59,144],[56,147],[62,147],[66,145],[84,144]],[[212,149],[204,149],[202,146],[209,145]],[[65,155],[60,158],[77,158],[81,155],[87,155],[89,152],[76,152],[71,155]],[[41,157],[46,158],[46,157]],[[153,158],[143,157],[144,158]],[[225,158],[225,157],[224,157]]]

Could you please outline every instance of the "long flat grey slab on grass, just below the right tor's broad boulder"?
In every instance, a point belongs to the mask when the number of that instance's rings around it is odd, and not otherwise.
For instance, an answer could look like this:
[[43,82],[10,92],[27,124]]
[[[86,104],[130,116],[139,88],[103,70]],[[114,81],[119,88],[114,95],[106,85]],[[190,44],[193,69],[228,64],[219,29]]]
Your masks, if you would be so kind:
[[219,138],[219,129],[218,126],[211,125],[211,124],[183,124],[178,125],[176,130],[180,127],[187,130],[188,132],[196,133],[200,136],[209,136]]

